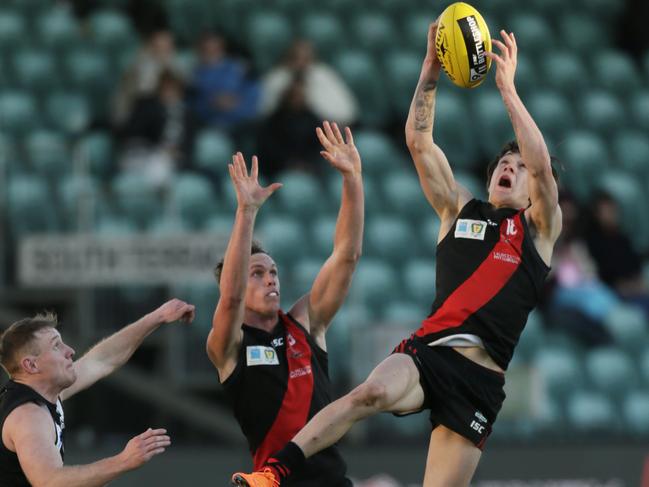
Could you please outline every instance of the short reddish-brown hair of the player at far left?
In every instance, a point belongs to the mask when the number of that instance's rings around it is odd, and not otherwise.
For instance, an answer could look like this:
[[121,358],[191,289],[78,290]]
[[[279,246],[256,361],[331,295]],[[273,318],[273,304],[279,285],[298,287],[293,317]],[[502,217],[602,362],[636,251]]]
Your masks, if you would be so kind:
[[10,376],[20,370],[20,353],[32,347],[29,353],[37,354],[33,348],[36,333],[45,328],[58,326],[56,314],[52,312],[39,313],[32,318],[16,321],[0,336],[0,365]]

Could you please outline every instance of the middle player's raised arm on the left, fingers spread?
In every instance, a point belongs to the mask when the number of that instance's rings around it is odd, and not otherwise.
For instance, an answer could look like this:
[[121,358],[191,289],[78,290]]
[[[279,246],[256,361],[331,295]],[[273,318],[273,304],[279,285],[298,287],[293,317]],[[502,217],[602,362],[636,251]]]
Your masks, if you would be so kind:
[[223,259],[219,284],[221,297],[216,305],[212,329],[207,337],[207,355],[221,377],[227,377],[234,369],[242,339],[241,324],[257,212],[268,197],[282,186],[279,183],[267,187],[259,184],[257,156],[252,157],[250,174],[241,152],[232,156],[232,164],[228,165],[228,170],[237,194],[237,212]]

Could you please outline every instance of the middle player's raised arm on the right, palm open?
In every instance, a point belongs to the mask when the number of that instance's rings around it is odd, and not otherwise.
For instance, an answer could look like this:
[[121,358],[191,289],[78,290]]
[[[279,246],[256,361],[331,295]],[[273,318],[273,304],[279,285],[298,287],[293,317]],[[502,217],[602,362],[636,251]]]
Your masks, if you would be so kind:
[[336,221],[334,246],[313,282],[311,292],[300,299],[291,314],[308,327],[324,348],[324,332],[342,306],[363,248],[364,198],[361,158],[349,128],[343,138],[338,125],[324,122],[316,128],[320,152],[342,175],[342,197]]

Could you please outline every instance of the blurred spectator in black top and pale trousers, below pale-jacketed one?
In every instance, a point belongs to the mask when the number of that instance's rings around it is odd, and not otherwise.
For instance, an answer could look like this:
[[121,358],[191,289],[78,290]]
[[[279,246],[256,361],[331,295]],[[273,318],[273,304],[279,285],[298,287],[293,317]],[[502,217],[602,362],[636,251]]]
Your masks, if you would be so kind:
[[138,98],[118,130],[123,140],[122,164],[146,172],[157,184],[167,183],[176,168],[191,160],[195,131],[183,81],[165,70],[155,94]]

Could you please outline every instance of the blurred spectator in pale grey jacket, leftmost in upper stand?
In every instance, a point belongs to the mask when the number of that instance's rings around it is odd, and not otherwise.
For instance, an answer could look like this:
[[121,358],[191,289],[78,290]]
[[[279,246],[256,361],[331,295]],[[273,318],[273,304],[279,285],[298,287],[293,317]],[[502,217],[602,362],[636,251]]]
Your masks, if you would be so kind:
[[165,69],[183,76],[172,33],[157,30],[149,35],[122,76],[115,95],[113,121],[116,124],[123,124],[129,117],[136,98],[156,91],[160,73]]

